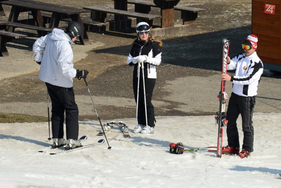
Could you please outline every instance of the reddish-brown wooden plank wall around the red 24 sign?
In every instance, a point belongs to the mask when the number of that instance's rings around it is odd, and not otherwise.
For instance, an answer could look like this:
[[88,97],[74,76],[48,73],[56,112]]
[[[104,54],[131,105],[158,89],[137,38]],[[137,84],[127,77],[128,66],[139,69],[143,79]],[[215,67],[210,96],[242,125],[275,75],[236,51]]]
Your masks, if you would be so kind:
[[[275,4],[275,14],[264,13],[265,4]],[[258,36],[257,53],[263,62],[281,65],[280,0],[252,1],[252,33]]]

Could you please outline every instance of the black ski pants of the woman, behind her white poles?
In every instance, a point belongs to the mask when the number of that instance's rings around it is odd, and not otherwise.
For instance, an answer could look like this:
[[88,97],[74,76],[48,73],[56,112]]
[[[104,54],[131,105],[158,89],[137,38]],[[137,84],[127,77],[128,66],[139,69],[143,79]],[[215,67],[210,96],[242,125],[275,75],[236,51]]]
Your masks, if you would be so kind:
[[[154,78],[145,78],[145,93],[146,93],[146,112],[147,112],[147,125],[150,127],[155,126],[155,115],[154,115],[154,106],[151,103],[151,98],[154,90],[156,79]],[[138,94],[138,77],[133,77],[133,89],[135,95],[135,102],[137,103],[137,94]],[[138,124],[146,125],[146,114],[145,114],[145,101],[144,101],[144,92],[143,92],[143,77],[140,76],[139,83],[139,95],[138,95]]]

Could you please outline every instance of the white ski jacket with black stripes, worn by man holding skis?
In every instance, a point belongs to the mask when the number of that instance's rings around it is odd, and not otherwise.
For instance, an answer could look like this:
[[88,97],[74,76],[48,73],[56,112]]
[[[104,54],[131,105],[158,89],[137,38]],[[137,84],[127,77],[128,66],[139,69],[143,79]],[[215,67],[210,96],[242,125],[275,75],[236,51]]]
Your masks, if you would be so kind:
[[230,60],[227,64],[227,70],[234,70],[235,76],[231,77],[233,83],[233,93],[240,96],[255,96],[257,95],[259,81],[263,73],[263,64],[254,52],[249,56],[241,53]]

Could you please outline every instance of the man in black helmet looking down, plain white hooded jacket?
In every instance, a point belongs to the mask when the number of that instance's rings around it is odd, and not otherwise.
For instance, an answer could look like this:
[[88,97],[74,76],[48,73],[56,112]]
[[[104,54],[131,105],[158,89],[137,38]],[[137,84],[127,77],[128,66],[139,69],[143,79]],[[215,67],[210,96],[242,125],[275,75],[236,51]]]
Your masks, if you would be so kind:
[[[39,79],[46,83],[52,101],[52,135],[54,147],[67,144],[80,146],[78,140],[78,107],[75,103],[72,78],[86,78],[88,71],[73,68],[73,52],[70,44],[82,36],[83,27],[70,22],[66,31],[54,28],[33,44],[34,60],[41,65]],[[66,138],[64,137],[64,111],[66,114]]]

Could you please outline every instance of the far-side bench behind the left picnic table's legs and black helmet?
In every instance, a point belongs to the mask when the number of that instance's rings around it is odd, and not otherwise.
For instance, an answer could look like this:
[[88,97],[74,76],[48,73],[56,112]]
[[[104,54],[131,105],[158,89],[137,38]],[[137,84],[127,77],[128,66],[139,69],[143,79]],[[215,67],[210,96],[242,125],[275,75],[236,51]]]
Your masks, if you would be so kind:
[[[32,15],[32,13],[28,13],[28,14]],[[44,24],[50,23],[51,17],[52,17],[51,13],[41,12],[41,15],[43,16],[43,19],[44,19],[43,23]],[[64,18],[64,19],[62,19],[62,21],[64,21],[64,22],[71,22],[72,19]],[[107,26],[108,25],[108,23],[96,22],[96,21],[84,20],[84,19],[82,19],[82,23],[83,23],[84,28],[85,28],[86,31],[92,31],[94,26],[95,27],[103,27],[103,26]]]

